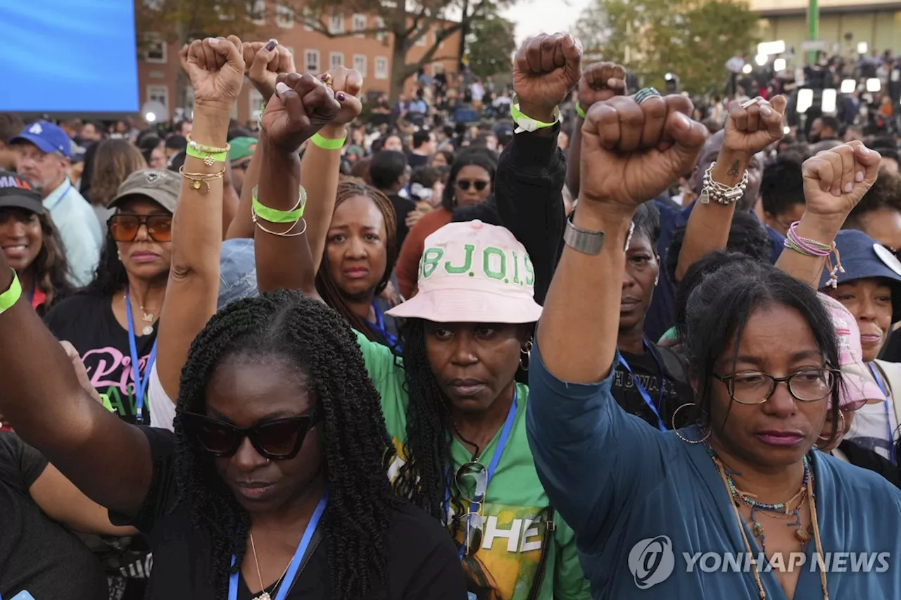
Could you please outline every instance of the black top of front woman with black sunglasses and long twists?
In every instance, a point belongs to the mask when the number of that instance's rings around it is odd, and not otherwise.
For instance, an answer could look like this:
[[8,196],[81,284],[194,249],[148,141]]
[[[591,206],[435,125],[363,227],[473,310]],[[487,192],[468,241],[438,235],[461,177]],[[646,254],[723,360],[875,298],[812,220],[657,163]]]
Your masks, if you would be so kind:
[[[153,481],[134,518],[110,514],[114,523],[132,524],[147,534],[154,565],[147,600],[221,600],[214,598],[211,548],[208,536],[194,528],[186,505],[177,502],[175,434],[143,428],[150,441]],[[412,506],[399,509],[387,533],[387,586],[371,600],[465,600],[466,586],[460,559],[441,524]],[[330,595],[324,537],[305,560],[288,600],[349,600]],[[284,585],[284,584],[282,584]],[[274,597],[274,595],[273,595]],[[250,591],[239,581],[239,600]],[[354,599],[358,600],[358,599]],[[369,599],[359,599],[369,600]]]

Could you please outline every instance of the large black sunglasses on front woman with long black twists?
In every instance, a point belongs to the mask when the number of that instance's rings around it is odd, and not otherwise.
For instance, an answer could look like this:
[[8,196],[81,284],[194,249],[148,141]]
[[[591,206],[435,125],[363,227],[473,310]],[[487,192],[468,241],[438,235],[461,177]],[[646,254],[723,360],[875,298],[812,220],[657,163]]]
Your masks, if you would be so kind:
[[264,459],[287,460],[297,456],[307,432],[322,415],[311,408],[304,416],[277,419],[253,427],[235,427],[205,414],[184,413],[180,418],[188,436],[214,457],[234,456],[247,438]]

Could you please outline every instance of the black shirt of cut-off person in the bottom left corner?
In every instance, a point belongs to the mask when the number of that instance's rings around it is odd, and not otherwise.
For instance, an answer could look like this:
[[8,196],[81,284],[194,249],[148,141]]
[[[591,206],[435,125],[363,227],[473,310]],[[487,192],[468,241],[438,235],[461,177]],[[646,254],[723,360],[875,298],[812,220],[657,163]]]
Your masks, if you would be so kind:
[[46,467],[38,450],[0,432],[0,595],[24,590],[37,600],[105,600],[100,561],[29,494]]

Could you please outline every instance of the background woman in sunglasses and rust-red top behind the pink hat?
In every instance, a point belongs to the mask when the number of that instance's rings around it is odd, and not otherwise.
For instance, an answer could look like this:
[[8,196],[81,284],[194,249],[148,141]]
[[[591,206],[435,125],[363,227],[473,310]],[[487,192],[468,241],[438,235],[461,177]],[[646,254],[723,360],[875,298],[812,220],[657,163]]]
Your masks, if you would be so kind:
[[457,206],[478,205],[491,195],[497,170],[496,160],[485,150],[467,150],[454,160],[441,206],[424,214],[407,234],[397,257],[397,283],[405,298],[416,293],[416,270],[423,257],[425,238],[451,223]]

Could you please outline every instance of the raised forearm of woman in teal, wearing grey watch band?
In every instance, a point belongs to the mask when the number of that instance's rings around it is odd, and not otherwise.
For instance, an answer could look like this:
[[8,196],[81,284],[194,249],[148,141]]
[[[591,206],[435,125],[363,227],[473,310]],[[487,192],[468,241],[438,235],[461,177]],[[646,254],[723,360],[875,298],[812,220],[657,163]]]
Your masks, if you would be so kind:
[[579,203],[574,223],[604,232],[604,247],[596,255],[564,247],[538,326],[538,345],[555,377],[596,383],[609,374],[616,355],[622,290],[611,282],[622,281],[632,214],[586,201]]

